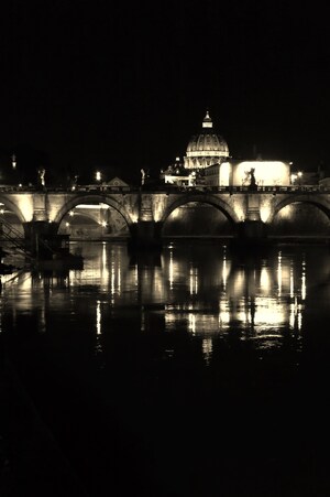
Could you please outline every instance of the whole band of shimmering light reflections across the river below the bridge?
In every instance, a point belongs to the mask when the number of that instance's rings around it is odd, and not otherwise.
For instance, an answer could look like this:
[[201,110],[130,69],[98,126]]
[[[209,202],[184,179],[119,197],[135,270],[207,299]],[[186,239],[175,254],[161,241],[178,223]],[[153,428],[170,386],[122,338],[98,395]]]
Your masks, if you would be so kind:
[[329,255],[322,247],[282,247],[245,259],[207,242],[170,244],[161,255],[140,257],[130,256],[121,242],[72,247],[85,257],[82,271],[22,272],[4,282],[2,312],[11,309],[14,318],[34,315],[43,333],[54,322],[94,322],[98,336],[113,316],[124,327],[131,315],[143,332],[157,326],[201,337],[209,363],[212,341],[233,331],[261,350],[280,347],[290,335],[298,350],[309,293],[320,285],[329,293]]

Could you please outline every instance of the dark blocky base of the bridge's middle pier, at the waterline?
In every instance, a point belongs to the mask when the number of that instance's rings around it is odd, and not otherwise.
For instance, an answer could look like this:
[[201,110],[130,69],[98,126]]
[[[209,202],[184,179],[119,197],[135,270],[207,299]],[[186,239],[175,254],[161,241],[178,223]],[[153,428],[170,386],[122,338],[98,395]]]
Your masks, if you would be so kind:
[[162,223],[140,220],[130,227],[129,248],[132,250],[162,249]]

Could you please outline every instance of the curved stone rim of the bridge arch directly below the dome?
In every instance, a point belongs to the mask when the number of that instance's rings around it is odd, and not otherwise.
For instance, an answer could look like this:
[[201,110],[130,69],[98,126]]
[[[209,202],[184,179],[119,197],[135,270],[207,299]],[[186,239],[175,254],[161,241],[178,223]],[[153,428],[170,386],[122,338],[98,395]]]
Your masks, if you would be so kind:
[[189,204],[190,202],[198,202],[200,204],[208,204],[211,205],[224,214],[224,216],[233,224],[239,223],[239,217],[233,210],[233,208],[222,198],[219,198],[216,195],[200,195],[200,194],[187,194],[184,196],[180,196],[179,198],[176,198],[174,202],[172,202],[169,205],[167,205],[166,209],[164,210],[164,214],[162,216],[162,224],[166,222],[168,216],[178,207],[182,207],[183,205]]

